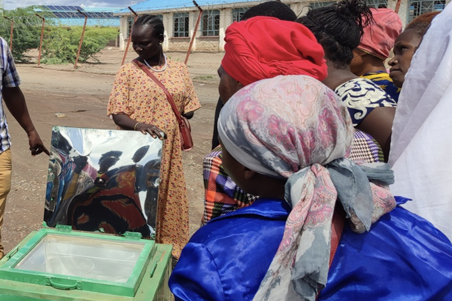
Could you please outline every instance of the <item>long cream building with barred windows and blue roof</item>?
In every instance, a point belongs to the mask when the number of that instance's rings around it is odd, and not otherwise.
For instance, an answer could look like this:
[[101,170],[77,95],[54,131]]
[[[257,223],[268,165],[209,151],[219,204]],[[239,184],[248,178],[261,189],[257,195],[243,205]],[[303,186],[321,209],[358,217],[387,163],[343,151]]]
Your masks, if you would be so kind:
[[[401,0],[399,16],[403,24],[415,17],[431,11],[444,9],[451,0]],[[193,40],[192,51],[224,51],[224,32],[235,21],[240,21],[243,14],[251,7],[265,1],[240,0],[197,0],[203,9],[201,22]],[[309,7],[318,8],[335,3],[335,1],[300,1],[282,0],[290,6],[297,16],[306,14]],[[375,8],[395,9],[397,0],[368,0]],[[157,15],[165,27],[164,51],[187,51],[193,36],[199,11],[191,0],[147,0],[131,6],[138,15]],[[131,28],[134,14],[122,9],[113,14],[120,17],[120,49],[124,50]]]

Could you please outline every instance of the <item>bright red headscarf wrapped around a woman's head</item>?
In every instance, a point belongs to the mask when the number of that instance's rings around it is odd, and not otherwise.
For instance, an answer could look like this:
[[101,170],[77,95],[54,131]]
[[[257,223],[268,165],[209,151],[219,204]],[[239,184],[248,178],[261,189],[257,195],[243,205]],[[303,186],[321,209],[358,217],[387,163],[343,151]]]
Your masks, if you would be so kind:
[[224,40],[221,66],[244,86],[278,75],[326,77],[323,49],[299,23],[255,17],[233,23]]

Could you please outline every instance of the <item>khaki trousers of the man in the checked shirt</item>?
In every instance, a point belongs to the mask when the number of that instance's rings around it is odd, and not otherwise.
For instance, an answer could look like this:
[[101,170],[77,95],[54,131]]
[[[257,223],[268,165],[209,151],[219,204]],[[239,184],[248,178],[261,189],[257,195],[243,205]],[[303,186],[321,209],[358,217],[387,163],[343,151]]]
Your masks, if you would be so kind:
[[4,255],[2,245],[3,214],[5,213],[6,197],[11,189],[11,150],[8,148],[0,154],[0,258]]

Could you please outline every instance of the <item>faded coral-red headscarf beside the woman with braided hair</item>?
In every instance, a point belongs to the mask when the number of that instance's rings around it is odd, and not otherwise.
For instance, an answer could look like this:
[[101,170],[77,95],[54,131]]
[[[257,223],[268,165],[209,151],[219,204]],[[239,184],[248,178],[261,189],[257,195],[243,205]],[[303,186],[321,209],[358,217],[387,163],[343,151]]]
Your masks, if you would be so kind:
[[390,9],[371,9],[374,23],[364,28],[364,35],[358,49],[377,58],[386,60],[394,47],[395,39],[402,32],[399,15]]

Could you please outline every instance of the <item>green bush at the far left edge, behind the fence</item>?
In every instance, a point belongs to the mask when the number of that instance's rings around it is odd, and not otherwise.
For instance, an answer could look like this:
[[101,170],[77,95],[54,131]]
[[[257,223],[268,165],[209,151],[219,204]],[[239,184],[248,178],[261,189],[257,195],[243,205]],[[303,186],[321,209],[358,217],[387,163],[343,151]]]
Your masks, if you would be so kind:
[[[35,16],[33,8],[18,8],[11,11],[0,10],[2,16],[14,20],[13,48],[11,52],[17,62],[28,62],[30,58],[25,53],[30,49],[39,47],[42,21]],[[10,20],[0,18],[0,36],[10,45]]]

